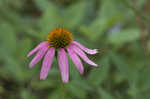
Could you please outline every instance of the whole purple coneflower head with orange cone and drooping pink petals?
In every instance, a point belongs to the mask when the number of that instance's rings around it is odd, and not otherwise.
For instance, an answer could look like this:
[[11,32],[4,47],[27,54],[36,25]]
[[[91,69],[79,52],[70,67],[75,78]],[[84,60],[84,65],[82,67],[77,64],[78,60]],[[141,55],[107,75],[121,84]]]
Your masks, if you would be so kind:
[[97,64],[92,62],[84,52],[88,54],[96,54],[98,51],[96,49],[91,50],[85,48],[77,41],[74,41],[72,34],[64,28],[56,28],[48,34],[46,40],[47,41],[41,42],[27,55],[27,57],[30,57],[37,52],[36,56],[30,62],[30,68],[37,64],[45,55],[40,73],[41,80],[45,80],[48,76],[56,50],[58,50],[58,63],[62,81],[64,83],[67,83],[69,80],[68,58],[66,52],[72,59],[80,74],[83,74],[84,68],[79,56],[88,64],[97,66]]

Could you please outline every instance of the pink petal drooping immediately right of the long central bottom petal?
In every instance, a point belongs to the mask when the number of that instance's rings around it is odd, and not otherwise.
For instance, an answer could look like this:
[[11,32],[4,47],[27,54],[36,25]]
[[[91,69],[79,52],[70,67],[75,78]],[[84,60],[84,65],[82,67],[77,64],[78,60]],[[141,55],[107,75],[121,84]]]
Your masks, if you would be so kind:
[[83,68],[80,58],[76,55],[76,53],[73,51],[71,46],[67,47],[67,51],[68,51],[68,54],[69,54],[70,58],[72,59],[73,63],[75,64],[78,71],[80,72],[80,74],[83,74],[84,68]]

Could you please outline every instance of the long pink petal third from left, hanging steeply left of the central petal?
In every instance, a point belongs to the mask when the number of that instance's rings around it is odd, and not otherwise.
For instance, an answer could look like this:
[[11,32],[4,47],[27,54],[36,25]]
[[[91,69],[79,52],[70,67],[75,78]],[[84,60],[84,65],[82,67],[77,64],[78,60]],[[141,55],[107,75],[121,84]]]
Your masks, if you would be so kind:
[[51,68],[54,55],[55,55],[55,48],[53,47],[49,48],[43,60],[42,69],[40,73],[41,80],[45,80],[46,77],[48,76],[48,72]]

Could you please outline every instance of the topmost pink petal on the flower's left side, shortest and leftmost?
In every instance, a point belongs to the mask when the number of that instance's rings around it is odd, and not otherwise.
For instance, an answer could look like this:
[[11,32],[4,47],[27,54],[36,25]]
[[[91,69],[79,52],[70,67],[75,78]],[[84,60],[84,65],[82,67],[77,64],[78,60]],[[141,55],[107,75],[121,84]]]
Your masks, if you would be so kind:
[[32,51],[29,52],[29,54],[27,55],[27,57],[30,57],[31,55],[33,55],[35,52],[37,52],[39,49],[41,49],[44,46],[48,46],[48,42],[41,42],[39,45],[37,45],[37,47],[35,47]]

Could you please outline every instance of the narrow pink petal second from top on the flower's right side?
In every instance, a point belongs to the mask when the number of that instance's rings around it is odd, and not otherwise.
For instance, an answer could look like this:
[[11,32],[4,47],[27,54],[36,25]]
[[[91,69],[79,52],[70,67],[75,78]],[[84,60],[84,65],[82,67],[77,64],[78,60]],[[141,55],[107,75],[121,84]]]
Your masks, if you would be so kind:
[[90,65],[93,65],[93,66],[97,66],[97,64],[95,64],[93,61],[91,61],[87,56],[86,54],[78,47],[76,47],[75,45],[72,45],[72,49],[74,50],[74,52],[76,54],[78,54],[85,62],[87,62],[88,64]]

